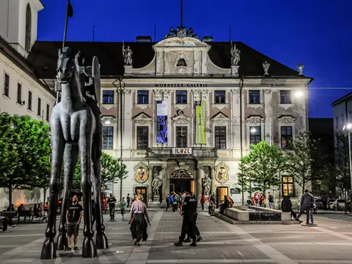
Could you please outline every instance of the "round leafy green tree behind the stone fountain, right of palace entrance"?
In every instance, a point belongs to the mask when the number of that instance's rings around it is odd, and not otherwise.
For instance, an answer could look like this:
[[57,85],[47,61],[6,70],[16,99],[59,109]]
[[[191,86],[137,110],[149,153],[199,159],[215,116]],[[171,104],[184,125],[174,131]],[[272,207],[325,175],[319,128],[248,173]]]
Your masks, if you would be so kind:
[[[241,160],[239,184],[247,190],[267,191],[281,184],[279,172],[286,169],[287,157],[267,142],[251,144],[251,152]],[[253,184],[253,187],[251,186]]]

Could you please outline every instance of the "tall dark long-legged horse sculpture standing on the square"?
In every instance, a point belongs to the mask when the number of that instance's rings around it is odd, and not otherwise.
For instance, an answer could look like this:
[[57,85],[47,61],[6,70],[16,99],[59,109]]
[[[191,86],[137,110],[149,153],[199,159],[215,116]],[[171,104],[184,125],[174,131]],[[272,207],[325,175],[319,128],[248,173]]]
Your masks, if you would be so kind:
[[[68,247],[66,210],[70,199],[73,175],[80,153],[81,186],[84,206],[84,240],[82,256],[97,256],[96,249],[107,249],[108,239],[103,225],[101,211],[101,119],[98,103],[100,101],[100,70],[96,57],[92,67],[84,66],[80,52],[74,54],[65,47],[58,51],[57,80],[61,84],[61,101],[51,113],[51,178],[50,208],[46,239],[42,248],[42,259],[56,258],[56,249]],[[92,94],[95,100],[88,96]],[[56,209],[60,175],[63,165],[64,187],[61,222],[56,243]],[[92,226],[92,187],[95,197],[96,242]]]

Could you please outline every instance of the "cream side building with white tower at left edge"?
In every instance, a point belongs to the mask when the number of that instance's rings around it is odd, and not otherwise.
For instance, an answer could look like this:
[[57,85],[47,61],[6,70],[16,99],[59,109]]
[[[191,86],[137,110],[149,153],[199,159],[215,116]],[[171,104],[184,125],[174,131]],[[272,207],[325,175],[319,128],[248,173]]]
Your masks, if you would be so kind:
[[[37,39],[37,13],[44,6],[39,0],[0,1],[0,112],[30,115],[49,125],[56,96],[29,61]],[[13,191],[13,203],[43,201],[40,190]],[[0,210],[8,207],[8,191],[0,189]]]

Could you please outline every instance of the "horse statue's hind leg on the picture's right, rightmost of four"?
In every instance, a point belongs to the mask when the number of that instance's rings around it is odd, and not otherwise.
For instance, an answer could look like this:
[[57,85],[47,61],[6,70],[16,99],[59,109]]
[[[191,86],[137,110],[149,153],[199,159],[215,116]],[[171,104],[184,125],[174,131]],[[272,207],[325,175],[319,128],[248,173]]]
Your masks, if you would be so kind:
[[96,218],[96,248],[108,249],[108,238],[105,234],[105,225],[103,223],[103,212],[101,210],[101,151],[99,149],[100,134],[94,137],[92,146],[92,184],[95,197],[95,218]]

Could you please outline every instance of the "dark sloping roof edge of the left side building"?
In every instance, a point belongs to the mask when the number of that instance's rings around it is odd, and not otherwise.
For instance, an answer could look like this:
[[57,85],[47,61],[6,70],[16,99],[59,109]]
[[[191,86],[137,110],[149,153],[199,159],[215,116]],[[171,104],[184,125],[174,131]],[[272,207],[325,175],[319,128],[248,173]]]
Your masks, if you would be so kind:
[[13,46],[8,44],[5,39],[0,36],[0,52],[4,54],[9,60],[11,60],[15,65],[22,69],[27,75],[30,75],[34,81],[40,84],[46,91],[55,96],[54,92],[51,91],[49,87],[44,85],[44,83],[39,80],[35,67],[27,61],[21,54],[16,51]]

